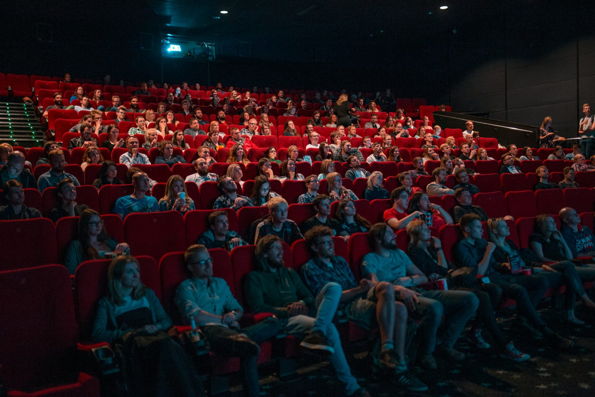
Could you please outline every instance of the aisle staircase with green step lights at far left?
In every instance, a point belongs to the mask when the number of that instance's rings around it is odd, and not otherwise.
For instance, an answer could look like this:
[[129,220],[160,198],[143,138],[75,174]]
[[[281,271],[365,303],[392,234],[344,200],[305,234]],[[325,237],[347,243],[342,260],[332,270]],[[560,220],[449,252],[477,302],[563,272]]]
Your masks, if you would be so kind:
[[43,146],[44,130],[35,116],[35,107],[20,102],[0,102],[0,143],[32,148]]

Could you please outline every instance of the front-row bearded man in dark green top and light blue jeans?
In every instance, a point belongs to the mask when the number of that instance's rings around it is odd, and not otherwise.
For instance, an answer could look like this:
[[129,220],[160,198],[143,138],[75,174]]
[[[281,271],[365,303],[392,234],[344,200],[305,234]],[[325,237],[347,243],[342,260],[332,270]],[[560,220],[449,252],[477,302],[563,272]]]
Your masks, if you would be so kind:
[[341,287],[328,283],[316,298],[303,285],[299,274],[284,267],[283,245],[277,236],[265,236],[254,251],[256,270],[244,277],[246,302],[255,313],[270,312],[280,319],[290,335],[303,337],[300,346],[330,354],[330,362],[348,396],[369,396],[349,370],[333,317]]

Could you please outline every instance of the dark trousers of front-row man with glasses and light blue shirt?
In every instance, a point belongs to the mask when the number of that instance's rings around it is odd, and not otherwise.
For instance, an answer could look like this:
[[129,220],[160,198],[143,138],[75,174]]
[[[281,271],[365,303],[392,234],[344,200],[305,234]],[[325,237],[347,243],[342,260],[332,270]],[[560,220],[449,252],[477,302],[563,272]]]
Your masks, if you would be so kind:
[[[211,348],[214,352],[230,354],[231,352],[226,351],[227,345],[220,343],[223,342],[223,339],[226,339],[228,336],[243,333],[260,345],[265,340],[277,335],[280,329],[281,323],[275,318],[270,317],[257,324],[254,324],[253,326],[243,328],[239,331],[223,326],[204,326],[202,327],[202,332],[205,334],[209,343],[211,343]],[[257,360],[258,355],[240,358],[243,391],[244,395],[248,397],[259,396],[258,368],[256,367]]]

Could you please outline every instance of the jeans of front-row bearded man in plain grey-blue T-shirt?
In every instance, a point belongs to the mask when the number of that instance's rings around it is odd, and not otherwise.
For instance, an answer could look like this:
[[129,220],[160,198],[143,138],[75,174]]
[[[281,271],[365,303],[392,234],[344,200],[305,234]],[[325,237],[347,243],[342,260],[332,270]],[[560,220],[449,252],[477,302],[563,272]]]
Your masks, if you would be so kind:
[[422,354],[434,351],[437,338],[452,348],[480,304],[474,293],[459,290],[425,291],[418,299],[416,311],[423,316],[419,326],[423,338],[420,347]]

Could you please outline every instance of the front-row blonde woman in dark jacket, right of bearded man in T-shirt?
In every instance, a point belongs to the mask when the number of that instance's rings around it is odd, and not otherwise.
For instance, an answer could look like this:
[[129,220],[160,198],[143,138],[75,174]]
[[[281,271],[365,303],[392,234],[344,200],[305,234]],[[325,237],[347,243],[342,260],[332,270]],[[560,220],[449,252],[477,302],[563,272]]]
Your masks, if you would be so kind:
[[[413,264],[428,277],[430,282],[446,279],[452,264],[444,256],[440,240],[437,237],[432,237],[428,225],[424,221],[414,220],[407,225],[406,230],[410,239],[408,255]],[[449,290],[472,292],[480,301],[477,316],[472,321],[471,331],[468,335],[475,346],[480,349],[490,348],[490,345],[481,336],[481,328],[484,326],[498,345],[500,357],[516,362],[527,361],[531,358],[530,355],[518,351],[512,340],[502,334],[494,315],[494,307],[498,302],[492,302],[492,299],[499,300],[499,294],[496,293],[495,288],[492,298],[490,293],[480,289],[481,283],[474,283],[472,287],[467,288],[450,282],[447,287]]]

